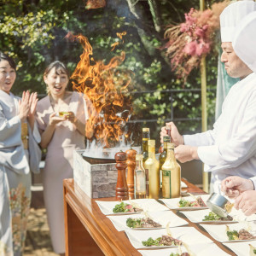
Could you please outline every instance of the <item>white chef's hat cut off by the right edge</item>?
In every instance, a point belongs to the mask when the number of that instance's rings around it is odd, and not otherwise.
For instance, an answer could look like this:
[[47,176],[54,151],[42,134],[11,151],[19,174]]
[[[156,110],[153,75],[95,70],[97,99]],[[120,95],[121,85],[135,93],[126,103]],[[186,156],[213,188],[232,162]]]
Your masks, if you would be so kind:
[[241,61],[256,73],[256,11],[236,26],[232,45]]

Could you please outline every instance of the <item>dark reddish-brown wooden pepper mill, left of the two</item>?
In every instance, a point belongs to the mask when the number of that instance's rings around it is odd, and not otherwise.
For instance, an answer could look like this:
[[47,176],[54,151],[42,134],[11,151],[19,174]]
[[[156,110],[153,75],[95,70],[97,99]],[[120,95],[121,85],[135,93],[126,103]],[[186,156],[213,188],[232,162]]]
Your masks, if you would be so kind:
[[128,187],[126,183],[125,170],[127,167],[126,160],[127,156],[125,152],[120,151],[114,155],[116,161],[116,168],[118,169],[118,179],[115,189],[115,198],[118,201],[128,200]]

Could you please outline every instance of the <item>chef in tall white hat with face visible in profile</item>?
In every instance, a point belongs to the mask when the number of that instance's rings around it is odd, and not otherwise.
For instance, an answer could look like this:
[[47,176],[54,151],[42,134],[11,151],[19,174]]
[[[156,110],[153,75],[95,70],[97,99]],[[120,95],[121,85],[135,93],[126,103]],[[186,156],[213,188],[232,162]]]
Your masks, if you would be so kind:
[[[254,49],[242,43],[233,49],[232,42],[242,18],[256,10],[253,1],[231,3],[220,15],[221,47],[225,70],[232,78],[240,81],[232,86],[226,96],[222,113],[213,125],[213,129],[195,135],[180,135],[176,125],[171,125],[172,142],[176,144],[177,160],[201,160],[205,172],[212,172],[212,188],[220,192],[221,181],[230,175],[249,178],[256,176],[256,73],[253,67],[241,59],[240,50],[248,56]],[[247,32],[244,32],[247,33]],[[252,36],[255,32],[251,32]],[[247,42],[248,44],[248,42]],[[256,37],[250,44],[256,45]],[[238,55],[239,53],[239,55]],[[256,60],[256,55],[253,55]],[[254,63],[255,64],[255,63]],[[256,70],[254,70],[256,72]],[[166,124],[167,125],[167,124]],[[161,139],[166,135],[162,127]]]

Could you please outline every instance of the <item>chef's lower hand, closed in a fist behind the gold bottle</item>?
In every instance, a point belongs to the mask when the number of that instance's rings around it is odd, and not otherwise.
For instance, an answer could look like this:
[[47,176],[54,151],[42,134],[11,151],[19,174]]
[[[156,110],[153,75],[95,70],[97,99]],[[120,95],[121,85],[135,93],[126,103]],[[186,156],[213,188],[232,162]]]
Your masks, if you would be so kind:
[[191,160],[199,159],[197,154],[197,147],[189,145],[179,145],[174,148],[175,158],[181,163],[185,163]]

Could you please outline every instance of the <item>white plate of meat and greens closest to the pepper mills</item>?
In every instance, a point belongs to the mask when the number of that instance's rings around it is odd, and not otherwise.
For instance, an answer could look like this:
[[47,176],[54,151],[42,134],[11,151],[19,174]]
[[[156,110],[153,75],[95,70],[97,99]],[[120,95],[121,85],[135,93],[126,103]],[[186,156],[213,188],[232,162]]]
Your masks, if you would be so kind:
[[96,201],[105,215],[137,214],[139,212],[161,212],[169,209],[154,199],[134,199],[125,201]]

